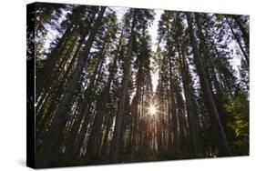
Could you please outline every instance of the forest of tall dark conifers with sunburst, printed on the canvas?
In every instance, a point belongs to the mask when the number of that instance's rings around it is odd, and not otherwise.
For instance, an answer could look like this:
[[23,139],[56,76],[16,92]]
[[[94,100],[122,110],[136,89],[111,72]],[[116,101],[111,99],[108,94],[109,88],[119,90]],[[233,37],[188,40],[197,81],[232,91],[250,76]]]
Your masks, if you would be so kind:
[[249,15],[46,3],[27,15],[36,167],[249,155]]

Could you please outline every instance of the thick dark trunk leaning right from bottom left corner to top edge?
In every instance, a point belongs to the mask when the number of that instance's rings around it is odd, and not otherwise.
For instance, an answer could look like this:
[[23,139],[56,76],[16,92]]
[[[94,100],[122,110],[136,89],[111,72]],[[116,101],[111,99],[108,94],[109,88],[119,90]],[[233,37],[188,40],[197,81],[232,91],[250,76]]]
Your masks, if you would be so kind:
[[78,81],[79,81],[80,75],[83,72],[83,68],[87,61],[87,56],[89,55],[90,48],[94,42],[95,36],[97,35],[97,30],[102,23],[101,20],[103,18],[105,10],[106,10],[106,7],[101,7],[101,10],[97,17],[97,21],[94,27],[92,28],[91,34],[87,39],[87,44],[85,46],[85,49],[81,57],[77,61],[77,66],[74,71],[74,74],[68,80],[67,90],[64,96],[62,97],[60,104],[56,110],[56,115],[53,118],[52,124],[51,126],[49,126],[49,131],[46,138],[44,139],[43,146],[41,147],[41,150],[37,154],[38,163],[40,163],[41,160],[46,162],[50,161],[52,157],[49,157],[48,154],[52,154],[52,153],[55,154],[55,151],[56,151],[55,147],[58,141],[58,136],[67,123],[68,107],[70,105],[70,102],[73,99],[77,86],[79,85]]

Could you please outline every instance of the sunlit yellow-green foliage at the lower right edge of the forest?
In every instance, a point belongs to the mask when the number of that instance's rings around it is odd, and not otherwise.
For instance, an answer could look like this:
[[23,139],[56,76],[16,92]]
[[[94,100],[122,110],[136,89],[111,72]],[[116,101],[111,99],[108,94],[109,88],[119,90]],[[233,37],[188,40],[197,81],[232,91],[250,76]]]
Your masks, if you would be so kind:
[[243,91],[233,96],[227,105],[227,112],[232,116],[228,124],[234,132],[235,141],[231,142],[233,155],[249,154],[249,100]]

